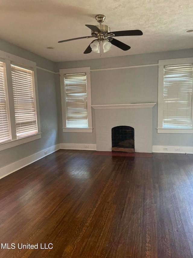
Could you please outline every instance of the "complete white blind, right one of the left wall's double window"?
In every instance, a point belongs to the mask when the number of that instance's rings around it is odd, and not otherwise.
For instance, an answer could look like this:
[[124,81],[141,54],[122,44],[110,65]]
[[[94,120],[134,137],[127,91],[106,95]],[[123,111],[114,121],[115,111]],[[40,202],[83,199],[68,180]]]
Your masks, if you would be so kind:
[[38,133],[33,71],[11,65],[17,138]]

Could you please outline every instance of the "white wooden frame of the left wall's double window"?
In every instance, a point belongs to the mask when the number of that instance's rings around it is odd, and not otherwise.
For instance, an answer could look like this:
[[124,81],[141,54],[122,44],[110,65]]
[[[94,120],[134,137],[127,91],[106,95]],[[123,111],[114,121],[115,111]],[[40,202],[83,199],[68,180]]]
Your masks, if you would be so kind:
[[[11,140],[8,142],[3,142],[0,144],[0,151],[12,148],[17,145],[21,145],[27,142],[34,141],[41,138],[41,128],[40,128],[40,110],[38,101],[38,88],[37,88],[37,71],[36,63],[22,57],[17,57],[15,55],[0,51],[0,61],[5,63],[5,80],[6,80],[6,90],[8,95],[8,112],[9,112],[9,126],[10,126],[10,136]],[[33,69],[34,75],[34,96],[36,104],[36,116],[37,116],[37,128],[38,133],[24,136],[23,138],[17,138],[16,136],[16,125],[15,125],[15,111],[14,111],[14,99],[13,99],[13,86],[11,77],[11,64],[21,65],[21,67],[26,67]]]

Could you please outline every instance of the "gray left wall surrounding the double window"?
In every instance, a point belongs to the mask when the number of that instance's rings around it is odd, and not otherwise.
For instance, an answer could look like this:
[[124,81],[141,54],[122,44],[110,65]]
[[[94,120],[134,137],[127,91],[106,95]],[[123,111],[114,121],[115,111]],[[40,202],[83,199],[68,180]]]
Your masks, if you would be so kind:
[[[0,50],[36,62],[54,71],[55,63],[0,40]],[[0,152],[0,168],[59,143],[55,74],[37,69],[42,138]]]

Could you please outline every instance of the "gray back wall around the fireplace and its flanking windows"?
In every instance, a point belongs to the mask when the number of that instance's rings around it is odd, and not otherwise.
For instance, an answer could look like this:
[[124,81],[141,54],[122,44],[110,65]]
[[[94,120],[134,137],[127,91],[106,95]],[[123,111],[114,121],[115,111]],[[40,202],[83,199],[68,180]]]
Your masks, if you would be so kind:
[[[64,68],[90,67],[92,69],[157,64],[158,60],[193,57],[193,49],[56,63],[55,71]],[[58,82],[59,83],[59,82]],[[91,72],[92,105],[156,102],[158,67],[136,67]],[[93,112],[94,114],[94,112]],[[59,116],[61,143],[96,143],[91,133],[63,133]],[[94,120],[94,117],[93,117]],[[94,126],[93,126],[94,127]],[[153,145],[193,146],[192,134],[158,134],[157,105],[153,107]]]

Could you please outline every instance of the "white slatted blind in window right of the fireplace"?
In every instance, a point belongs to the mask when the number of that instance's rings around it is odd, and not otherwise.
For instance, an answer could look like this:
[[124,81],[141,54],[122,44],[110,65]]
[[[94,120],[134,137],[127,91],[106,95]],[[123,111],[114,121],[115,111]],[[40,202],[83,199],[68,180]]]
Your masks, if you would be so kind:
[[192,127],[193,65],[164,66],[163,128]]

